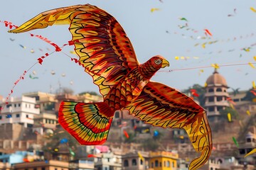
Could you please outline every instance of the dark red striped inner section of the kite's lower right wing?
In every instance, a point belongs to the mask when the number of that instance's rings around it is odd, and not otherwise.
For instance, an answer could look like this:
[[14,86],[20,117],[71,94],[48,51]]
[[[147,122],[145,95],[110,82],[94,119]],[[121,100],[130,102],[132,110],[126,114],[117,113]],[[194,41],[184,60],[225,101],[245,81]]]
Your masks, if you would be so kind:
[[183,128],[205,112],[188,96],[152,81],[124,109],[145,123],[162,128]]

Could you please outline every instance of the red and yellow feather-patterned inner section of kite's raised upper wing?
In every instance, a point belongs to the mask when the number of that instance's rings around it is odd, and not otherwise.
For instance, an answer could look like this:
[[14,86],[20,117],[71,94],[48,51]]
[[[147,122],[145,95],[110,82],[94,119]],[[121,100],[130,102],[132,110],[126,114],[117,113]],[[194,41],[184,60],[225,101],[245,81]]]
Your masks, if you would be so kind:
[[87,7],[90,11],[76,15],[69,29],[80,63],[106,96],[139,63],[132,43],[116,19],[95,6]]

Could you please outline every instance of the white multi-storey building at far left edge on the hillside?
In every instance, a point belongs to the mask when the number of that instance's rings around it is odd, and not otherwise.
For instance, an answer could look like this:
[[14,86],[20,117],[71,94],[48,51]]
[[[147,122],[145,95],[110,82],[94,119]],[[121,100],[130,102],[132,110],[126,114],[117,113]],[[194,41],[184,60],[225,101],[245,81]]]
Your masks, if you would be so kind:
[[11,97],[9,101],[0,101],[1,114],[0,125],[7,123],[19,123],[24,127],[30,127],[34,123],[34,116],[40,113],[36,108],[36,98],[26,96]]

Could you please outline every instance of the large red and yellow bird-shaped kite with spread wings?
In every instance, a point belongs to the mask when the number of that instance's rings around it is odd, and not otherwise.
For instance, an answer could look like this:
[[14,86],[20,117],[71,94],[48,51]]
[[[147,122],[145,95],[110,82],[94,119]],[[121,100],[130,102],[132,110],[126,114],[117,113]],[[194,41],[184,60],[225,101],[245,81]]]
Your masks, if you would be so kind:
[[207,162],[213,144],[206,111],[176,89],[150,81],[159,69],[169,66],[164,57],[156,55],[139,64],[122,26],[109,13],[90,4],[40,13],[9,32],[22,33],[53,24],[70,24],[79,62],[104,98],[97,103],[60,104],[60,125],[81,145],[103,144],[115,111],[127,110],[145,123],[186,130],[193,148],[201,152],[189,169],[198,169]]

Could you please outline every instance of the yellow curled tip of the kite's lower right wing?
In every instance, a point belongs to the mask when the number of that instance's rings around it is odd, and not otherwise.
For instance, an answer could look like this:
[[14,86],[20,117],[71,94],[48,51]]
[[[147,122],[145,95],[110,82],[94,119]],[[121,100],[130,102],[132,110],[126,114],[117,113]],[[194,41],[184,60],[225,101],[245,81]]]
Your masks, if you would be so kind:
[[203,164],[206,164],[213,148],[211,130],[206,113],[198,117],[196,122],[186,125],[184,129],[188,133],[193,148],[196,152],[201,152],[201,156],[193,159],[189,165],[189,170],[195,170],[203,166]]

